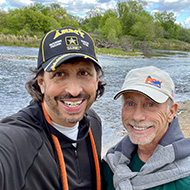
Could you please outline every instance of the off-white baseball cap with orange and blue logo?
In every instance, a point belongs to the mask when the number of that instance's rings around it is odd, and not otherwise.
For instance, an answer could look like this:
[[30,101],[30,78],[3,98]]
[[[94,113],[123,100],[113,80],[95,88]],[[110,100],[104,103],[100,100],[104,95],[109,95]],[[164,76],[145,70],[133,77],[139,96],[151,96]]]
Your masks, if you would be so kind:
[[154,66],[142,67],[128,72],[114,99],[118,99],[125,92],[135,91],[157,103],[164,103],[168,98],[174,101],[174,90],[174,82],[168,73]]

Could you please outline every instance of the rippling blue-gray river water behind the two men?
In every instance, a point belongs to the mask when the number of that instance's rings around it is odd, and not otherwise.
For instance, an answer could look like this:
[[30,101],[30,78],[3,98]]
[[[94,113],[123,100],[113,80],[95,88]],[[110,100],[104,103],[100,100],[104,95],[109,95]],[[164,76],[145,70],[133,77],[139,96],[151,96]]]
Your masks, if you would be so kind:
[[[0,47],[0,119],[17,112],[30,102],[25,82],[32,77],[38,48]],[[170,74],[176,86],[176,101],[190,100],[190,52],[156,51],[151,58],[116,58],[98,55],[107,83],[105,94],[93,108],[102,119],[104,149],[122,138],[121,101],[113,100],[126,73],[137,67],[154,65]]]

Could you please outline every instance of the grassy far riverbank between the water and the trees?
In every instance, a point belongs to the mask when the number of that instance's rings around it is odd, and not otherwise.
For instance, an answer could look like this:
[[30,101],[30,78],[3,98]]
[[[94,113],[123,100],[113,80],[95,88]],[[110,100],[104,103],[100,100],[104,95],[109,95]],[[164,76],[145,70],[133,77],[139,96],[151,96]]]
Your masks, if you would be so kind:
[[[132,36],[126,36],[117,43],[110,43],[99,35],[91,34],[98,54],[135,58],[151,57],[153,49],[190,51],[190,43],[175,39],[154,39],[154,41],[139,41]],[[41,38],[37,36],[16,36],[0,33],[0,46],[39,47]]]

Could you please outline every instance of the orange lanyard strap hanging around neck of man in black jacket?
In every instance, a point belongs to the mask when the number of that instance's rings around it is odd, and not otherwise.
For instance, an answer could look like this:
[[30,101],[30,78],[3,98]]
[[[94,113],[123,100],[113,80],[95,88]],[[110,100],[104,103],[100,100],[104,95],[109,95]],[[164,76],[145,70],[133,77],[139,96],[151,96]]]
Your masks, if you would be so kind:
[[[42,109],[43,109],[46,121],[50,125],[52,125],[51,119],[50,119],[49,115],[47,114],[47,112],[45,110],[43,102],[42,102]],[[61,170],[61,178],[62,178],[62,182],[63,182],[63,189],[68,190],[69,186],[68,186],[68,182],[67,182],[67,172],[66,172],[65,161],[64,161],[62,150],[61,150],[61,146],[59,144],[58,138],[53,134],[51,134],[51,136],[53,138],[55,148],[56,148],[56,152],[57,152],[57,156],[58,156],[58,160],[59,160],[59,166],[60,166],[60,170]],[[92,131],[91,131],[90,128],[89,128],[89,136],[90,136],[90,141],[91,141],[91,145],[92,145],[92,152],[93,152],[94,164],[95,164],[95,169],[96,169],[97,190],[101,190],[101,183],[100,183],[101,177],[100,177],[99,160],[98,160],[98,155],[97,155],[97,152],[96,152],[96,145],[95,145],[94,138],[93,138],[93,135],[92,135]]]

